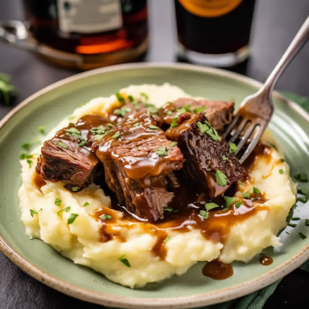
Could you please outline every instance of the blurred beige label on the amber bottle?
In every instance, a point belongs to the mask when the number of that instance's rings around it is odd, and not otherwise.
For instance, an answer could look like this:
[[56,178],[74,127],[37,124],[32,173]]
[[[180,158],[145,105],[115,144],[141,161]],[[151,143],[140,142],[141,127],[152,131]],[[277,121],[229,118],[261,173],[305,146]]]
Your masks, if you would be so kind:
[[97,33],[122,27],[120,0],[57,0],[61,32]]

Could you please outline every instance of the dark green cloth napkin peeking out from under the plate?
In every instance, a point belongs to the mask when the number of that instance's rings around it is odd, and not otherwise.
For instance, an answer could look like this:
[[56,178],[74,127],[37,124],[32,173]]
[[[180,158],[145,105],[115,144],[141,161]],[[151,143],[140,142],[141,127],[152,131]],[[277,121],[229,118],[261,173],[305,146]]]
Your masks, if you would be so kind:
[[[309,112],[309,98],[302,97],[290,92],[282,92],[287,98],[293,100],[294,102],[298,103],[304,109]],[[303,265],[299,267],[302,270],[309,272],[309,260],[307,260]],[[266,286],[265,288],[255,291],[251,294],[246,296],[230,300],[225,303],[220,303],[216,305],[210,305],[206,307],[202,307],[200,309],[261,309],[263,308],[266,300],[269,298],[270,295],[276,290],[279,282],[275,281],[270,286]]]

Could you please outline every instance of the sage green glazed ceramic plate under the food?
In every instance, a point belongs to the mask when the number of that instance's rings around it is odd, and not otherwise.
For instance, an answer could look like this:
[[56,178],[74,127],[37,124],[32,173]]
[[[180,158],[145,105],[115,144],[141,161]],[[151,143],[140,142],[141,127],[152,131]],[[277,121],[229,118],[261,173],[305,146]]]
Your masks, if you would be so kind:
[[[103,275],[61,256],[39,239],[25,235],[20,220],[17,191],[21,184],[19,153],[21,145],[47,131],[72,111],[98,96],[109,96],[129,84],[169,82],[193,96],[235,100],[254,93],[261,84],[224,70],[185,64],[126,64],[77,74],[32,95],[0,122],[0,248],[13,263],[37,280],[89,302],[121,308],[192,308],[220,303],[263,288],[290,273],[309,258],[308,207],[298,206],[294,216],[302,218],[296,228],[281,233],[283,246],[263,252],[273,264],[262,266],[259,256],[250,263],[234,262],[234,275],[226,280],[204,277],[204,263],[194,265],[182,276],[173,276],[145,288],[131,290],[107,280]],[[309,173],[309,114],[296,103],[274,93],[275,113],[269,125],[282,145],[291,175]],[[307,184],[305,184],[307,185]],[[306,212],[307,208],[307,212]],[[301,239],[299,232],[307,235]]]

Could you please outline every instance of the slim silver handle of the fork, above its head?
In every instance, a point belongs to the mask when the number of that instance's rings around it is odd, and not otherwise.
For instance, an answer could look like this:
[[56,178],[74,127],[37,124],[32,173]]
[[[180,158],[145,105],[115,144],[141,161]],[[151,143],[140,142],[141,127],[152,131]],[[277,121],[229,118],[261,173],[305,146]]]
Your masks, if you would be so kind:
[[275,87],[277,80],[308,39],[309,16],[307,17],[301,28],[298,30],[289,47],[286,49],[285,53],[282,55],[281,59],[267,78],[266,82],[259,91],[260,93],[264,92],[264,94],[267,95],[267,98],[271,99],[273,88]]

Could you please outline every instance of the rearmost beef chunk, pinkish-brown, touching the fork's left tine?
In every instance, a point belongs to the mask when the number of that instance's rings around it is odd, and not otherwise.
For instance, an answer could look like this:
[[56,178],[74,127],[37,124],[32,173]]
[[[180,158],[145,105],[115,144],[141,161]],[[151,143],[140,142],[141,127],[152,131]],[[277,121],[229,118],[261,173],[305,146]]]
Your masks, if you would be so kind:
[[223,131],[225,125],[229,124],[233,118],[234,103],[224,101],[214,101],[206,99],[180,98],[174,102],[168,102],[159,110],[159,116],[163,123],[170,125],[174,117],[184,112],[197,113],[201,111],[212,127],[218,131]]

